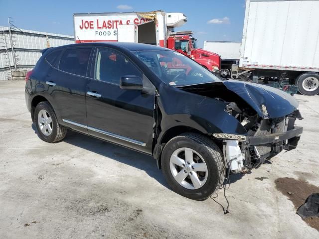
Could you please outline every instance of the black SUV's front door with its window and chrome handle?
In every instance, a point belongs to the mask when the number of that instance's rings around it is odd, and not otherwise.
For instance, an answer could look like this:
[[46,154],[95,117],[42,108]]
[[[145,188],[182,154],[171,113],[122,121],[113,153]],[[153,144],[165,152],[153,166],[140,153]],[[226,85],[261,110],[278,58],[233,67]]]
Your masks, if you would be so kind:
[[93,63],[86,96],[89,134],[151,153],[154,95],[120,88],[122,76],[142,77],[142,72],[109,48],[97,48]]

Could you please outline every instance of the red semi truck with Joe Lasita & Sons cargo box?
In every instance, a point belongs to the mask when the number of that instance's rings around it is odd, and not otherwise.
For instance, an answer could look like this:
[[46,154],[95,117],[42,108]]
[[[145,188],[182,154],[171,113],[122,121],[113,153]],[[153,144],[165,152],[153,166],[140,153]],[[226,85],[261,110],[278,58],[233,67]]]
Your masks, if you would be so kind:
[[174,31],[175,27],[187,22],[183,13],[76,13],[73,20],[76,43],[124,41],[152,44],[178,51],[209,71],[220,69],[220,56],[198,49],[197,40],[191,31]]

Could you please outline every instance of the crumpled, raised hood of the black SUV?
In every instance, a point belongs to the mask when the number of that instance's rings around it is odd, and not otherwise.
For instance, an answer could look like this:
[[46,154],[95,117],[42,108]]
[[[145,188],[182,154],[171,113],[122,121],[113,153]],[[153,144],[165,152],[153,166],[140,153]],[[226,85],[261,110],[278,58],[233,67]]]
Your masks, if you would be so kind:
[[236,80],[223,81],[223,84],[265,119],[289,115],[299,106],[294,97],[270,86]]

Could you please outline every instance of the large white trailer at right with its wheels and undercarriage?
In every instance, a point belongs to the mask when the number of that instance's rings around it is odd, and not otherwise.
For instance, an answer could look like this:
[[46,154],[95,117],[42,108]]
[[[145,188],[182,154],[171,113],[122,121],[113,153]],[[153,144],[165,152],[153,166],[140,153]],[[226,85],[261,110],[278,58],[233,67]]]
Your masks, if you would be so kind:
[[[246,0],[239,70],[319,93],[319,0]],[[238,76],[236,66],[232,77]]]

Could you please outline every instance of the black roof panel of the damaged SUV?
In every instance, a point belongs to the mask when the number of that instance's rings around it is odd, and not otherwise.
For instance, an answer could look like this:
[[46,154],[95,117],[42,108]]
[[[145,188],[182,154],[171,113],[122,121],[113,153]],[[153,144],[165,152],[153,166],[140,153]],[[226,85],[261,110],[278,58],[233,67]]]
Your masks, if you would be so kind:
[[76,43],[70,45],[64,45],[57,48],[64,48],[64,47],[72,47],[72,46],[109,46],[112,48],[128,50],[128,51],[147,51],[147,50],[161,50],[161,51],[171,51],[170,49],[154,46],[150,44],[143,44],[143,43],[133,43],[133,42],[87,42],[87,43]]

